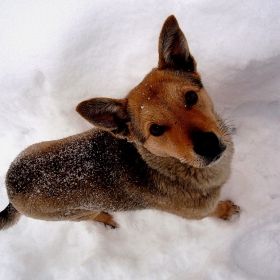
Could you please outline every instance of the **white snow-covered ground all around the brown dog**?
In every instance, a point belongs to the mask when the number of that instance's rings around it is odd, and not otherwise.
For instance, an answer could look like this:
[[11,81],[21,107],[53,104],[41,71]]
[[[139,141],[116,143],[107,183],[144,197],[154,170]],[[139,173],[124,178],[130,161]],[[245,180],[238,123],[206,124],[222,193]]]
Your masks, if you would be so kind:
[[157,212],[93,222],[22,217],[0,232],[0,279],[280,279],[280,2],[1,1],[0,208],[28,145],[90,128],[82,100],[120,98],[157,64],[174,14],[217,110],[236,130],[230,222]]

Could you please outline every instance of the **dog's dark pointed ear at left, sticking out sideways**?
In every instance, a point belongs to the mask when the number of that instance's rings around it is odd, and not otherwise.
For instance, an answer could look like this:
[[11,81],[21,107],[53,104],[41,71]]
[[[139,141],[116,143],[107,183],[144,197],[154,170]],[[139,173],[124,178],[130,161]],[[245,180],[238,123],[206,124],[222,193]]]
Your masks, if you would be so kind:
[[126,99],[93,98],[81,102],[76,110],[93,125],[119,136],[128,136]]

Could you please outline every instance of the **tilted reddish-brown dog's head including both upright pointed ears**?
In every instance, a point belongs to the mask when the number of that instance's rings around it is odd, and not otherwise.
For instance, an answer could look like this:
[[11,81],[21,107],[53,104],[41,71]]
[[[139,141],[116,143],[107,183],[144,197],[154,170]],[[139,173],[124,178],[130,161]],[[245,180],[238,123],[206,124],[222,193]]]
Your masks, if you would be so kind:
[[216,162],[230,142],[174,16],[159,38],[159,62],[125,99],[94,98],[77,111],[95,126],[194,167]]

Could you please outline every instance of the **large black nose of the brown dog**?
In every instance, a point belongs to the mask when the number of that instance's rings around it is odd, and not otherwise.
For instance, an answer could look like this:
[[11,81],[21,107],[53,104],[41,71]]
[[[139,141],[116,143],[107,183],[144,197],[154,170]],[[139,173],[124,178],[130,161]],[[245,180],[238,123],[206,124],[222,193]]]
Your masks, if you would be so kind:
[[192,140],[194,151],[209,163],[217,160],[226,149],[213,132],[196,131],[192,134]]

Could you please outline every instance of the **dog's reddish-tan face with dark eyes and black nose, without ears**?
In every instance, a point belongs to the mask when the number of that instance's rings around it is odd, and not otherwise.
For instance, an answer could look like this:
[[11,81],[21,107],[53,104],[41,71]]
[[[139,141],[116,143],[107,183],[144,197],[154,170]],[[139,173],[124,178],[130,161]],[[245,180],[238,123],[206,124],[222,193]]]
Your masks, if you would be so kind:
[[194,167],[216,161],[227,135],[198,77],[154,69],[128,95],[132,139]]

